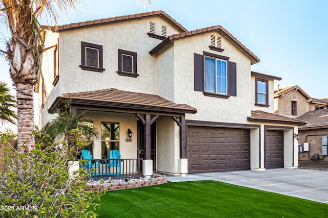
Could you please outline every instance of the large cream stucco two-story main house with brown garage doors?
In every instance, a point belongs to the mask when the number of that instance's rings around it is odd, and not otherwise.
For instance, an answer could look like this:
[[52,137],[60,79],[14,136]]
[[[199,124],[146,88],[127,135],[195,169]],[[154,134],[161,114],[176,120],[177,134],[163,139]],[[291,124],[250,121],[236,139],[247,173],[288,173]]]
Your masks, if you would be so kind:
[[188,31],[154,11],[43,34],[40,125],[72,100],[101,132],[94,158],[119,149],[174,175],[298,166],[305,122],[273,114],[281,78],[251,71],[259,58],[221,26]]

